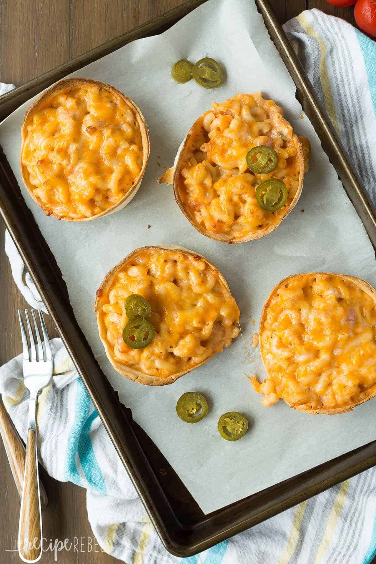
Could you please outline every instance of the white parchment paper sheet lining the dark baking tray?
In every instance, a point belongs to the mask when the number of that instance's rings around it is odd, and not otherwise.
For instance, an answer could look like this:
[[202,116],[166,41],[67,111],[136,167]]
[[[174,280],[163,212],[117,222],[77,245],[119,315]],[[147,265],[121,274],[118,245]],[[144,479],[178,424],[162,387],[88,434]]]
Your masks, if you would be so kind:
[[[194,62],[204,56],[223,64],[227,80],[222,87],[205,90],[193,81],[172,82],[173,61]],[[0,125],[0,143],[57,259],[78,323],[104,374],[202,510],[209,513],[374,440],[372,401],[338,417],[304,415],[282,400],[264,408],[243,375],[265,377],[259,351],[250,347],[251,335],[269,291],[282,278],[333,271],[376,284],[368,236],[307,117],[299,117],[302,108],[294,83],[254,3],[210,0],[161,36],[139,39],[70,76],[114,85],[144,113],[151,155],[141,188],[125,209],[72,224],[46,217],[34,204],[19,174],[19,131],[29,103]],[[276,100],[294,130],[311,140],[312,160],[298,205],[281,226],[262,239],[227,245],[194,230],[171,187],[158,186],[157,178],[172,165],[189,127],[211,102],[254,90]],[[135,384],[113,370],[98,337],[93,305],[110,268],[134,248],[163,243],[202,253],[222,271],[240,306],[244,340],[239,336],[201,368],[158,388]],[[190,390],[204,393],[210,403],[209,415],[195,425],[185,424],[175,413],[176,400]],[[249,431],[238,442],[226,442],[218,434],[218,417],[225,411],[241,411],[249,418]]]

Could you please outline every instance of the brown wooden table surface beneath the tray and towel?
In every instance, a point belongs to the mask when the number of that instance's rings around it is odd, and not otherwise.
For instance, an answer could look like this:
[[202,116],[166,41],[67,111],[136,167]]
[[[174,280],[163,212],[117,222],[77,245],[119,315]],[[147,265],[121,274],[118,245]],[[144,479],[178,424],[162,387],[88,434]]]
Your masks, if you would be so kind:
[[[21,85],[48,69],[100,45],[144,23],[163,12],[179,6],[183,0],[2,0],[0,1],[0,81]],[[306,8],[320,8],[328,14],[340,15],[354,23],[353,7],[335,8],[325,0],[271,0],[281,23]],[[89,14],[89,19],[88,19]],[[0,363],[21,351],[17,308],[26,303],[12,280],[8,259],[4,252],[4,226],[0,233],[0,301],[2,336]],[[57,336],[48,320],[50,336]],[[0,440],[0,562],[20,562],[17,553],[3,552],[14,548],[18,529],[20,500]],[[87,521],[85,490],[71,483],[56,482],[42,471],[49,504],[43,510],[43,533],[47,539],[73,540],[87,537],[94,545],[94,535]],[[109,564],[114,559],[100,552],[60,552],[57,562],[68,564]],[[43,554],[42,562],[54,562],[54,554]]]

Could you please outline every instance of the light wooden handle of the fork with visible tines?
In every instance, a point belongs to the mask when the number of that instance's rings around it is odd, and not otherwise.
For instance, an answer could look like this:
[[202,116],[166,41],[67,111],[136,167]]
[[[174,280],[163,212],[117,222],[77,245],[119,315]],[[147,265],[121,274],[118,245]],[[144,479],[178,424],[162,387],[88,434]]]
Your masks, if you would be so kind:
[[24,562],[36,562],[42,556],[42,522],[38,495],[36,441],[35,431],[29,429],[18,539],[19,554]]

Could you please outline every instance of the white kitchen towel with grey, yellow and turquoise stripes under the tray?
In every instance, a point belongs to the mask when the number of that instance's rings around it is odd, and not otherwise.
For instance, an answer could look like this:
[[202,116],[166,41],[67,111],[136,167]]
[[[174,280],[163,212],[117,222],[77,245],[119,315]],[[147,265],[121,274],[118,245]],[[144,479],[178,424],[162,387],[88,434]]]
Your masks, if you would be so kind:
[[[305,11],[285,31],[376,206],[376,43],[343,20]],[[40,298],[10,237],[6,251],[21,292]],[[376,469],[304,501],[197,556],[167,553],[59,339],[52,384],[39,399],[40,455],[47,472],[87,490],[101,547],[127,564],[366,564],[376,553]],[[26,437],[21,356],[0,369],[0,393]]]

